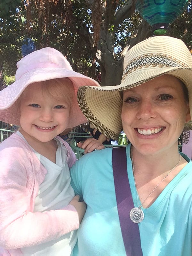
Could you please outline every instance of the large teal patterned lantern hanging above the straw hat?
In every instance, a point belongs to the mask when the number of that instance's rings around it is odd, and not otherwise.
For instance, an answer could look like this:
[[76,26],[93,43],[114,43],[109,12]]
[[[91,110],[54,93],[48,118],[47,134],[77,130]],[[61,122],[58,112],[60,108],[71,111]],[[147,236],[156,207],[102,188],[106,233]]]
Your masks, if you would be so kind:
[[187,9],[188,4],[188,0],[137,0],[136,10],[157,36],[167,34],[169,25]]

